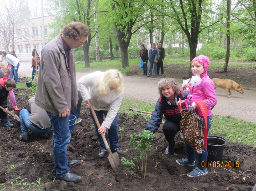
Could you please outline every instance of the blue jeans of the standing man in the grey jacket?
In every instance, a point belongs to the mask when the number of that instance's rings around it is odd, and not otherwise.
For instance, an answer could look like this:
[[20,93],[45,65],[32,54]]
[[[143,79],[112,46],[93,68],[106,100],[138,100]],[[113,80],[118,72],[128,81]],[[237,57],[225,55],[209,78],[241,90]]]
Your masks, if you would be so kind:
[[53,153],[56,167],[56,177],[68,174],[67,147],[70,143],[69,116],[59,117],[59,115],[47,112],[51,124],[53,125]]

